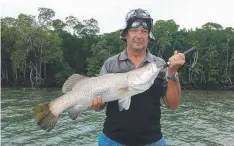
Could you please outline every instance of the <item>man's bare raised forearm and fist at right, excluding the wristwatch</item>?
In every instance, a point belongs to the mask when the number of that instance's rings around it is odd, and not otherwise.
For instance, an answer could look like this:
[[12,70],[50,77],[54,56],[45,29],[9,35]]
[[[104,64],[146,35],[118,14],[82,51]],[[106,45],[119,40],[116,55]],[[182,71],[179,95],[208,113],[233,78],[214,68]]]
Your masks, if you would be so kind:
[[[185,57],[183,54],[174,52],[174,55],[169,59],[170,65],[167,70],[167,76],[175,76],[180,66],[185,63]],[[177,110],[180,105],[181,86],[179,79],[168,80],[166,96],[163,101],[168,108]]]

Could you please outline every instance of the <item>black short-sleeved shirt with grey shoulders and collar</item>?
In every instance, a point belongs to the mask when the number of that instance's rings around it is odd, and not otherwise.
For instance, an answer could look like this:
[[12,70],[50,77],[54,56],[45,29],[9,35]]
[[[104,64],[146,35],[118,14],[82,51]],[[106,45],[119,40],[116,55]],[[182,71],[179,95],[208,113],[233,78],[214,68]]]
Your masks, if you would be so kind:
[[[163,59],[147,50],[147,56],[139,67],[152,61],[156,61],[157,65],[165,64]],[[123,73],[135,68],[124,50],[108,58],[100,74]],[[167,90],[166,73],[167,69],[161,70],[150,89],[131,98],[129,110],[119,111],[118,101],[107,103],[103,128],[103,133],[107,137],[131,146],[151,144],[162,138],[160,101]]]

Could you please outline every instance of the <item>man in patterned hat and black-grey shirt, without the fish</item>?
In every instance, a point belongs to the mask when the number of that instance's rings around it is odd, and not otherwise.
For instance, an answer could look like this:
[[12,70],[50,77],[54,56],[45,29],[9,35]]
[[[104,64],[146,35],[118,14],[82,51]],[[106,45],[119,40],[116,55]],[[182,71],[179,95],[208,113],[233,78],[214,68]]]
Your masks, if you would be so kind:
[[[130,11],[126,16],[126,26],[121,31],[126,49],[108,58],[100,74],[127,72],[152,61],[165,64],[163,59],[152,55],[147,49],[148,42],[154,40],[152,28],[153,19],[147,11]],[[165,145],[160,125],[160,100],[163,99],[169,109],[179,107],[181,88],[177,70],[185,63],[185,57],[175,51],[169,62],[169,67],[159,73],[149,90],[131,98],[129,110],[120,112],[117,101],[104,103],[101,97],[93,101],[90,107],[95,111],[106,106],[104,129],[99,136],[100,146]]]

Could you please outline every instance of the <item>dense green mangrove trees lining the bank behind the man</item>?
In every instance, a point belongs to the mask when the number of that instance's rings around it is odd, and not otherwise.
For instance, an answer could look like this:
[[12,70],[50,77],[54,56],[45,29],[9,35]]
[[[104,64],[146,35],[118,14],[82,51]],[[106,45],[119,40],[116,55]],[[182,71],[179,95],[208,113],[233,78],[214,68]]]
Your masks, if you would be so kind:
[[[105,59],[125,48],[119,30],[99,34],[93,18],[68,16],[63,22],[54,19],[52,9],[38,12],[1,18],[2,86],[54,87],[73,73],[94,76]],[[149,49],[165,60],[175,49],[199,49],[197,60],[193,55],[179,71],[183,86],[233,88],[234,28],[207,22],[195,30],[179,29],[174,20],[157,20],[153,34]]]

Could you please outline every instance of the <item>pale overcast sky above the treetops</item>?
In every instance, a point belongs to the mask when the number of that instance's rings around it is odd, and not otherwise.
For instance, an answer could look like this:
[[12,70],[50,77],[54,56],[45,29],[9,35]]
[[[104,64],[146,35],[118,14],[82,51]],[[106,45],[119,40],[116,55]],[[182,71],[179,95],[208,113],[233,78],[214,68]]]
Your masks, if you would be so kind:
[[38,15],[39,7],[55,11],[55,18],[73,15],[79,20],[94,18],[101,33],[124,26],[126,13],[135,8],[148,10],[154,19],[174,21],[180,28],[196,28],[206,22],[234,28],[233,0],[0,0],[1,16],[20,13]]

